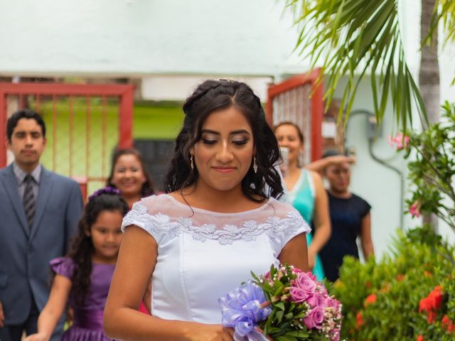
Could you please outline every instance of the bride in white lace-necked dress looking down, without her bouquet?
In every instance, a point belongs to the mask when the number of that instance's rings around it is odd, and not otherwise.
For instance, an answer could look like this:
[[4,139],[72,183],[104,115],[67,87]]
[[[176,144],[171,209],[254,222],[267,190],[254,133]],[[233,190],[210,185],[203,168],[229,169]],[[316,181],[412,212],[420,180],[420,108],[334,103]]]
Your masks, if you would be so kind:
[[[168,194],[124,218],[104,319],[117,340],[233,340],[218,298],[271,264],[308,270],[309,227],[277,200],[279,148],[259,97],[242,82],[207,80],[183,111]],[[151,316],[137,311],[150,281]]]

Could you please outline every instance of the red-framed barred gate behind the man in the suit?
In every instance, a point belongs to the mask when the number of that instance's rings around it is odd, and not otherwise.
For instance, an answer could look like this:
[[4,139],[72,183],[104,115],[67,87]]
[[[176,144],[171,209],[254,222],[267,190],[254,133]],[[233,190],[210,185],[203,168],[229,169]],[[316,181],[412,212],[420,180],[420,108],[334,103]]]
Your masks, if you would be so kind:
[[41,162],[77,180],[86,197],[105,182],[112,150],[132,146],[133,101],[133,85],[0,83],[0,168],[11,161],[6,120],[28,107],[46,124]]

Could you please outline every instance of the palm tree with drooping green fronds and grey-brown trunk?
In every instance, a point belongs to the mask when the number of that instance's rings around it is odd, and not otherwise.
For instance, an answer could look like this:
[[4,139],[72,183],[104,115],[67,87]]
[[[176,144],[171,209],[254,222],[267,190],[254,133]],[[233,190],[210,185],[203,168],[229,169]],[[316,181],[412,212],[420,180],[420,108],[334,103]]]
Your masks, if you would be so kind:
[[403,130],[412,124],[412,102],[424,127],[439,121],[437,27],[439,23],[444,27],[446,42],[455,41],[455,1],[422,0],[419,86],[406,63],[398,1],[287,0],[300,25],[299,53],[309,56],[312,66],[322,64],[327,106],[338,81],[348,77],[340,106],[346,120],[360,81],[370,75],[378,122],[390,97]]

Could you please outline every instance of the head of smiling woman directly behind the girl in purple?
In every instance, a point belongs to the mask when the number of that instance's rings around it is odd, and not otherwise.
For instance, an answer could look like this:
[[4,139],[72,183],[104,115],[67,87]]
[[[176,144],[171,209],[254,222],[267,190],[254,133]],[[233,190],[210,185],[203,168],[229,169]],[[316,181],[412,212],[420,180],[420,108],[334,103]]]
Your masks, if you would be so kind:
[[130,207],[141,197],[154,194],[154,186],[141,154],[134,148],[117,149],[114,152],[106,185],[118,188]]

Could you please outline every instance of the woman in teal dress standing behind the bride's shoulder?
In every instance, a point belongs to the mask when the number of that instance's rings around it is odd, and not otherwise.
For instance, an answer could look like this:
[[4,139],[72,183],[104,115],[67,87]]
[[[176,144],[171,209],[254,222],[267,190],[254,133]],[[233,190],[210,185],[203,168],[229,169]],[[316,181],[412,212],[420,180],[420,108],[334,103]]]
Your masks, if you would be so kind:
[[279,146],[287,147],[287,167],[284,170],[289,202],[298,210],[301,216],[314,227],[314,232],[306,235],[309,244],[308,262],[318,281],[324,278],[321,260],[318,252],[328,241],[331,234],[328,199],[323,187],[321,176],[301,168],[299,155],[304,150],[304,136],[296,124],[282,122],[275,127],[275,135]]

